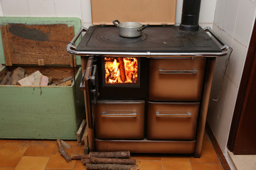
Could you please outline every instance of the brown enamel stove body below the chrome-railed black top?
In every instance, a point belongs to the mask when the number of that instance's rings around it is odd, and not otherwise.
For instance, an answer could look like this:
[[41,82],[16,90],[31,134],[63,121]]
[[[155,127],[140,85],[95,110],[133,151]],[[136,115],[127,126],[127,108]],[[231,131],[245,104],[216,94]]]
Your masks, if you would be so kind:
[[138,57],[137,86],[103,85],[103,58],[82,57],[90,150],[200,157],[215,58]]

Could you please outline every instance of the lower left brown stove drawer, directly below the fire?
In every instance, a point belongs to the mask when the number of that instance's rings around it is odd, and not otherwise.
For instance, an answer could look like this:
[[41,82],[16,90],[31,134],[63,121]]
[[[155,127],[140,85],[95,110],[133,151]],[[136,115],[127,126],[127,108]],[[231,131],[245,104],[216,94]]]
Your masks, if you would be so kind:
[[143,139],[144,101],[97,101],[95,133],[98,139]]

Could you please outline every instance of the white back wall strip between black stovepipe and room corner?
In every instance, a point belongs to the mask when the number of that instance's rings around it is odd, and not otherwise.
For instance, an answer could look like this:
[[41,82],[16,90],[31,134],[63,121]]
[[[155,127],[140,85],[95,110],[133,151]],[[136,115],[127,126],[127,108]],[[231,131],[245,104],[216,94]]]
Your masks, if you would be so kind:
[[199,23],[213,23],[217,0],[201,1]]

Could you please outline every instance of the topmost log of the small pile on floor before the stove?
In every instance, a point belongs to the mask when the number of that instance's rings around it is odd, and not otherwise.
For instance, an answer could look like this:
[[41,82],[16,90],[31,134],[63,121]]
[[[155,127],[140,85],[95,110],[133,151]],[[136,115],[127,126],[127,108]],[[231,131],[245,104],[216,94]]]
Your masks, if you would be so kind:
[[90,152],[90,157],[101,158],[129,158],[131,156],[129,151],[124,152]]

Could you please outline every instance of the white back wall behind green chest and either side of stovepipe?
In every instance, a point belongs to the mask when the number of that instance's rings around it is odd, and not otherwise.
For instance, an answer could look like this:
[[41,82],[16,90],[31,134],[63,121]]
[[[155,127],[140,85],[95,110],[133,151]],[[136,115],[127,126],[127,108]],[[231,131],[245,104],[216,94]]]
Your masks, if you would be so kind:
[[[199,23],[212,26],[217,0],[201,2]],[[92,24],[90,0],[1,0],[0,16],[60,16],[81,18],[82,26]],[[176,23],[181,23],[182,0],[177,0]],[[1,10],[2,9],[2,10]]]

